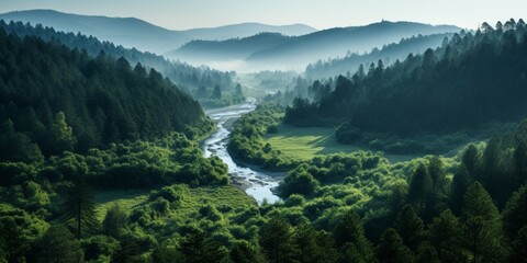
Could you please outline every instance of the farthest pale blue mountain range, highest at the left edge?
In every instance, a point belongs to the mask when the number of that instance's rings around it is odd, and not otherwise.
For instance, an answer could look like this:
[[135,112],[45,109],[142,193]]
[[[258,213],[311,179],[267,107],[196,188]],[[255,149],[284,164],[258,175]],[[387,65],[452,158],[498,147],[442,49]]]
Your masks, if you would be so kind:
[[211,28],[171,31],[135,18],[108,18],[101,15],[79,15],[61,13],[54,10],[27,10],[0,14],[7,23],[10,21],[42,24],[64,32],[80,32],[101,41],[113,42],[124,47],[135,47],[164,54],[173,50],[193,39],[224,41],[235,37],[247,37],[261,32],[274,32],[284,35],[304,35],[316,30],[303,25],[267,25],[243,23]]

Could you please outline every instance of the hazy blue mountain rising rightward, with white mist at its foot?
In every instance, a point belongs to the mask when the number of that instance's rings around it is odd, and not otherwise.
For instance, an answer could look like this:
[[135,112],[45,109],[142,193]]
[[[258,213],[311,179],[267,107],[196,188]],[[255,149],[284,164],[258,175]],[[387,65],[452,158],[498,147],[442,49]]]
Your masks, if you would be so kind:
[[[428,25],[413,22],[388,22],[365,26],[336,27],[302,36],[280,37],[256,35],[223,42],[190,42],[167,53],[172,58],[193,64],[224,60],[244,60],[243,69],[300,69],[312,61],[343,56],[347,52],[365,53],[374,47],[400,42],[417,35],[459,32],[452,25]],[[255,45],[256,41],[265,44]],[[250,54],[249,54],[250,53]]]

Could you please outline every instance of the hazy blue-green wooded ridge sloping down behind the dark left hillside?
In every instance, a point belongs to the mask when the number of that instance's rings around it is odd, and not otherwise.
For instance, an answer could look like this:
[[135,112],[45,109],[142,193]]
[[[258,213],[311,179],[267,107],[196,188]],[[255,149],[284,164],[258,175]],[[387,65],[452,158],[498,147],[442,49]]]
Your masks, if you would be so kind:
[[[41,24],[32,26],[29,23],[0,21],[0,27],[4,28],[8,34],[14,33],[21,37],[37,36],[46,42],[65,45],[71,49],[86,50],[90,57],[97,57],[103,53],[114,58],[123,57],[131,65],[141,64],[147,70],[155,68],[176,83],[180,90],[200,100],[204,106],[225,106],[245,100],[243,92],[239,93],[239,90],[235,89],[236,84],[233,81],[235,72],[221,72],[204,66],[197,68],[180,61],[169,61],[162,56],[152,53],[142,53],[135,48],[128,49],[110,42],[100,42],[97,37],[86,36],[81,33],[57,32],[53,27],[44,27]],[[220,98],[217,93],[214,93],[214,89],[221,90]]]

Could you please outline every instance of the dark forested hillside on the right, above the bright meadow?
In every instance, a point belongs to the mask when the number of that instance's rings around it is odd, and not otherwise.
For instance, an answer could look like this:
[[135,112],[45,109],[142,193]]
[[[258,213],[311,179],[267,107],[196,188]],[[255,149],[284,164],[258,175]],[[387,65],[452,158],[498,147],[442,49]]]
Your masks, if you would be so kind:
[[[298,99],[284,121],[347,121],[347,129],[397,135],[441,134],[527,114],[527,39],[523,20],[484,24],[447,45],[385,67],[360,67],[334,84],[315,81],[314,102]],[[363,69],[366,68],[366,69]]]

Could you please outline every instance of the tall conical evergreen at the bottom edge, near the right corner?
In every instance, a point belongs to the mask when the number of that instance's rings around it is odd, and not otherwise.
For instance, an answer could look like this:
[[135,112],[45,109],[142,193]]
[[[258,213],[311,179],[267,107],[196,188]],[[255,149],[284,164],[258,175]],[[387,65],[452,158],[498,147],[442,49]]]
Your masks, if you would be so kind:
[[472,262],[500,261],[505,258],[500,214],[491,196],[479,182],[464,195],[462,244]]

